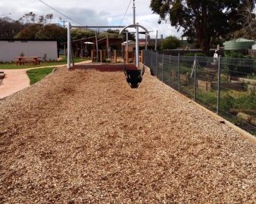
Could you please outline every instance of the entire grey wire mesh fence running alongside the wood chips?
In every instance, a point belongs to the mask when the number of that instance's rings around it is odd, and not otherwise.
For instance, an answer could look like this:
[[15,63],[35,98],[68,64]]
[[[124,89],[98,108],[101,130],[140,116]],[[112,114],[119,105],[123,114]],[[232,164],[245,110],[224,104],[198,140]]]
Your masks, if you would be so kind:
[[256,60],[171,56],[143,51],[151,74],[256,135]]

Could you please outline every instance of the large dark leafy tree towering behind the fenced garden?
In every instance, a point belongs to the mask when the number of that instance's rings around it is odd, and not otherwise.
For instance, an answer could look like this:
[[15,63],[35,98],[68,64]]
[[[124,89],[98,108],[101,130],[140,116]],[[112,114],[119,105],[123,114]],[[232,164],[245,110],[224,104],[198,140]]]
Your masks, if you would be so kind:
[[195,37],[206,53],[214,39],[241,29],[239,8],[254,0],[151,0],[151,10],[159,22],[170,22],[183,36]]

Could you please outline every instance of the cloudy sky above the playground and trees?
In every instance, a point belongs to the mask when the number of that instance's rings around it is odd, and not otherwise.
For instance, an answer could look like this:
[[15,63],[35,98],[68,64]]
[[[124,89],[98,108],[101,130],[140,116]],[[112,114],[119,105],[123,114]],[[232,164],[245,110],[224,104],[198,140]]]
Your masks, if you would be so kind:
[[[158,24],[159,16],[153,14],[149,5],[150,0],[135,0],[136,23],[148,29],[151,38],[155,38],[157,31],[158,38],[161,38],[161,35],[164,38],[182,35],[170,26],[170,23]],[[72,26],[128,26],[133,24],[133,0],[0,0],[0,17],[6,16],[18,20],[30,11],[38,17],[42,14],[53,14],[52,23],[61,23],[61,25],[63,21],[70,22]]]

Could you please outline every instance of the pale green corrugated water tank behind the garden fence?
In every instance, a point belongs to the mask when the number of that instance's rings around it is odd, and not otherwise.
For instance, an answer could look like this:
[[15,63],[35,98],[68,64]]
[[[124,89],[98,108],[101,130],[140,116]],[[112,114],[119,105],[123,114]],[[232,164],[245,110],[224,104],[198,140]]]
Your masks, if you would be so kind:
[[233,39],[227,42],[224,42],[224,50],[245,50],[251,49],[251,46],[254,45],[254,40],[249,39]]

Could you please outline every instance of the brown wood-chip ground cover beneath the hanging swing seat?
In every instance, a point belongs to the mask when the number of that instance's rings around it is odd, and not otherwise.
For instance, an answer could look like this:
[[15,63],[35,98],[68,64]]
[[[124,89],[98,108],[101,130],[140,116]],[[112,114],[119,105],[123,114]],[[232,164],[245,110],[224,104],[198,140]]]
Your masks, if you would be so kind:
[[62,67],[0,107],[0,203],[256,203],[256,144],[148,70]]

